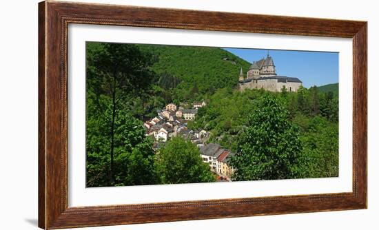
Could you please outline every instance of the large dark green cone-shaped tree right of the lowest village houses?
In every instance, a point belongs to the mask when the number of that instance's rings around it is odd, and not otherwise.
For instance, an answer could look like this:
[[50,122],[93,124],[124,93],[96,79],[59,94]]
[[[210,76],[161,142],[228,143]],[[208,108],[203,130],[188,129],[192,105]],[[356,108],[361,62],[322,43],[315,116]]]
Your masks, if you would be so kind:
[[231,159],[234,180],[296,178],[301,144],[298,127],[288,119],[287,109],[265,94],[249,117],[240,136],[237,154]]

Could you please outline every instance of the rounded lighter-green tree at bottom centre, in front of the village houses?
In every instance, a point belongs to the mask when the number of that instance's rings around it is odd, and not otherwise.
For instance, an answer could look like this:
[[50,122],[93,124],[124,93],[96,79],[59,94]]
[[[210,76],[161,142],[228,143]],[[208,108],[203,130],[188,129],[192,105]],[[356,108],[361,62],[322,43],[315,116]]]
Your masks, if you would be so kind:
[[157,154],[156,172],[162,184],[214,182],[198,148],[181,137],[172,138]]

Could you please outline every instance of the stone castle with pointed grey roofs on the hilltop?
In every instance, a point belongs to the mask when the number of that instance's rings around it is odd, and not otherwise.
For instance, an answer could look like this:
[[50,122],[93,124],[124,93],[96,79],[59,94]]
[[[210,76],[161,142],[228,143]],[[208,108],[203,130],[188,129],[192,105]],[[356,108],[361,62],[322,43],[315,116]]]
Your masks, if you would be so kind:
[[289,92],[297,92],[302,85],[298,78],[276,75],[274,61],[267,52],[266,59],[254,61],[247,70],[246,78],[240,68],[238,87],[240,91],[245,89],[264,89],[272,92],[280,92],[283,87]]

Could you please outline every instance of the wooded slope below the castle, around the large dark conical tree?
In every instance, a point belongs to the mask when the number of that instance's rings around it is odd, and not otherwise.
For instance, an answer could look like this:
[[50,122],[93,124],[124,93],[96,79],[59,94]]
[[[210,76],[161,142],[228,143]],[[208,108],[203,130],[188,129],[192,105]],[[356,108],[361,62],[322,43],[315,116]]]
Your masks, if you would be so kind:
[[[266,97],[274,97],[285,107],[287,121],[300,127],[300,154],[297,166],[291,169],[292,176],[338,176],[338,98],[318,92],[318,87],[301,87],[297,93],[217,90],[207,106],[198,110],[195,121],[188,123],[189,128],[209,130],[209,143],[238,152],[238,143],[245,140],[245,131],[252,125],[249,117],[264,109],[260,102]],[[267,117],[262,119],[265,122]]]

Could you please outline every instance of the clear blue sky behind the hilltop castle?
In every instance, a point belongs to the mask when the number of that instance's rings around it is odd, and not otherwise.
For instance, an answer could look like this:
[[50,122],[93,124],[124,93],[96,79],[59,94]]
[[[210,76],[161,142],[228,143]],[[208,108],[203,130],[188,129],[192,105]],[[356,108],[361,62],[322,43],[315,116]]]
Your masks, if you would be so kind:
[[[267,56],[267,50],[225,48],[249,63]],[[276,74],[297,77],[305,87],[338,83],[338,53],[269,50]]]

